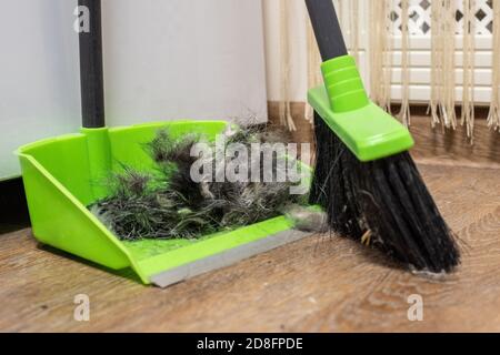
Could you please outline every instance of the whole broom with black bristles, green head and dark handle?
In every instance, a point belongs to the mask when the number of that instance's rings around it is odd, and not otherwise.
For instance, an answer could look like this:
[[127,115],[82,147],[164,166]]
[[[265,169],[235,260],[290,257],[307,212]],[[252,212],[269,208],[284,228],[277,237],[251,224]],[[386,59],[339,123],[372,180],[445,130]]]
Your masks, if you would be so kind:
[[[310,202],[320,204],[328,212],[330,227],[340,235],[373,245],[411,270],[452,271],[460,263],[453,233],[407,151],[410,145],[407,144],[402,152],[396,149],[387,156],[390,150],[386,148],[390,145],[382,146],[382,143],[371,140],[376,143],[364,149],[353,139],[359,138],[356,134],[376,138],[380,133],[377,132],[381,126],[379,123],[386,118],[368,99],[363,101],[361,89],[364,89],[356,73],[351,75],[357,79],[346,80],[348,77],[344,74],[356,70],[353,60],[346,68],[336,68],[331,72],[326,69],[349,61],[332,1],[306,0],[306,3],[323,60],[323,75],[332,105],[321,106],[321,114],[320,105],[313,105],[317,164]],[[352,85],[361,89],[356,87],[354,90]],[[342,88],[348,88],[346,90],[353,97],[341,92]],[[353,110],[350,105],[356,101],[358,105],[362,104]],[[358,125],[363,132],[354,132],[352,126],[356,125],[351,124],[354,120],[363,123]],[[391,128],[396,126],[392,124]],[[398,130],[401,129],[396,128],[394,132]],[[379,155],[382,156],[373,160],[378,149],[381,149]]]

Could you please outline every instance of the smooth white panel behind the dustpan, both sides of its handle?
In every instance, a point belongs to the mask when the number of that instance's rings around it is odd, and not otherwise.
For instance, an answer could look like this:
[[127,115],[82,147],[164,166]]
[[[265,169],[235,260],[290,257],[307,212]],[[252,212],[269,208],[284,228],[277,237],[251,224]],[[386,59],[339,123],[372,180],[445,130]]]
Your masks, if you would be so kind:
[[[0,0],[0,179],[12,151],[80,126],[76,0]],[[103,0],[109,125],[267,119],[256,0]]]

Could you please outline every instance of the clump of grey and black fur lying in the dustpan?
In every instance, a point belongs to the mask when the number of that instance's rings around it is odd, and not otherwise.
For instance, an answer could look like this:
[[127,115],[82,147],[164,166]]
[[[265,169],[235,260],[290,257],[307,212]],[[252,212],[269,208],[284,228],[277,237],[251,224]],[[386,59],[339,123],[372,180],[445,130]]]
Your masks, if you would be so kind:
[[[252,143],[286,141],[278,131],[256,128],[231,128],[226,135],[226,144],[238,142],[249,151]],[[307,201],[307,196],[290,194],[291,182],[210,182],[216,176],[208,182],[193,182],[190,169],[198,156],[191,156],[191,148],[202,140],[196,134],[173,139],[167,130],[159,130],[146,145],[158,171],[139,172],[123,166],[122,172],[109,179],[111,195],[91,204],[89,210],[120,240],[170,240],[196,239],[287,211],[297,214],[298,206]],[[216,165],[214,158],[211,163]]]

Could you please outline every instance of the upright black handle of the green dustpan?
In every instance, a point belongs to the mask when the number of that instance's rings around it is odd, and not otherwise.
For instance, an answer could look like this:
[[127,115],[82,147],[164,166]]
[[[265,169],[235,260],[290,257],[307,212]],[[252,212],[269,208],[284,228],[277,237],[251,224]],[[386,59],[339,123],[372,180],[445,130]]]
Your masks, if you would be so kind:
[[89,9],[90,31],[79,33],[81,119],[86,129],[103,128],[104,90],[102,80],[101,1],[78,0]]

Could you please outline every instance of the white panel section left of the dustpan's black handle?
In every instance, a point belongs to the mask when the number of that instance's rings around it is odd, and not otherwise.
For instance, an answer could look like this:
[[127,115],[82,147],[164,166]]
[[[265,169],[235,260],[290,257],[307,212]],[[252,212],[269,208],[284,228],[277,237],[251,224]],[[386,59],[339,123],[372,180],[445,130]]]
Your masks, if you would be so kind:
[[73,2],[0,0],[0,179],[19,173],[20,144],[78,130]]

